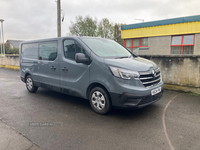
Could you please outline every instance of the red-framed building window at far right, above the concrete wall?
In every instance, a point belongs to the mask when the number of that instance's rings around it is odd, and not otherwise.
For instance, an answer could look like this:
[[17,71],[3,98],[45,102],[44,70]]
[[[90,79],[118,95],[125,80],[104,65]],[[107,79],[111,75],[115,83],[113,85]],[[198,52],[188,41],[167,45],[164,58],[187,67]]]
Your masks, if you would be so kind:
[[193,54],[194,35],[172,36],[171,54]]

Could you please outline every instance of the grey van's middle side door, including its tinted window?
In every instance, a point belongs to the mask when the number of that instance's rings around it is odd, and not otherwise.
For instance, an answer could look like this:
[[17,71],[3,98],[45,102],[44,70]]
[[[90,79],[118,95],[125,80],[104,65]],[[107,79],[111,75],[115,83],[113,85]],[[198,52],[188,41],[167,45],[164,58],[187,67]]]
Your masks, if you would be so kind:
[[41,87],[59,90],[60,81],[57,54],[57,41],[39,43],[38,77]]

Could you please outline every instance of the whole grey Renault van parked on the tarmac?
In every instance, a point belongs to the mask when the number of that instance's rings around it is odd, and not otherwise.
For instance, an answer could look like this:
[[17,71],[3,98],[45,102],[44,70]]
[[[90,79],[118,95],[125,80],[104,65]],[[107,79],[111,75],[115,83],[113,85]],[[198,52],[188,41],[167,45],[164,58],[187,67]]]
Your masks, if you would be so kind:
[[163,95],[158,65],[122,45],[95,37],[59,37],[20,44],[20,76],[38,87],[88,99],[99,114],[141,108]]

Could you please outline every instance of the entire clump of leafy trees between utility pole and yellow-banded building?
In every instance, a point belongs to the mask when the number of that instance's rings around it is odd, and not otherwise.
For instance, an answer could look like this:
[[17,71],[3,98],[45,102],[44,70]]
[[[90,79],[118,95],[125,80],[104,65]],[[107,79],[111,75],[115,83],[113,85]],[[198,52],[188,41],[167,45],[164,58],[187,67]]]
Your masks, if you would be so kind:
[[94,36],[112,39],[120,44],[123,44],[121,39],[121,26],[125,24],[111,23],[107,18],[103,18],[100,22],[92,19],[90,16],[85,18],[77,16],[75,22],[71,21],[69,27],[71,36],[78,36],[77,32],[82,36]]

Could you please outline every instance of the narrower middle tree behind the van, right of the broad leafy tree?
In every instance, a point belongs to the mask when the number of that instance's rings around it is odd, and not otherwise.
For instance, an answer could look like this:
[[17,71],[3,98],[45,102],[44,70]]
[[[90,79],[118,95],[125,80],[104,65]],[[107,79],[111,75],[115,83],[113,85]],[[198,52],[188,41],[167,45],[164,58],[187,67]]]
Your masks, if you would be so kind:
[[98,24],[98,36],[107,39],[114,39],[114,27],[107,18],[103,18]]

